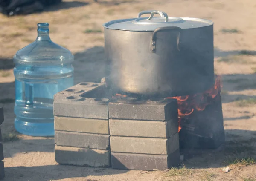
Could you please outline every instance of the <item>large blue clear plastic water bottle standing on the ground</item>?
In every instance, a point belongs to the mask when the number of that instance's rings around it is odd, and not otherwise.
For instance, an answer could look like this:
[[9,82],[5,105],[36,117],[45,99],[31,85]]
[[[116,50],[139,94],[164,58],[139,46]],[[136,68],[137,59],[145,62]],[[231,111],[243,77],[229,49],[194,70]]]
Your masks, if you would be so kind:
[[73,86],[73,55],[53,43],[49,24],[38,23],[35,42],[14,56],[15,129],[31,136],[53,136],[53,95]]

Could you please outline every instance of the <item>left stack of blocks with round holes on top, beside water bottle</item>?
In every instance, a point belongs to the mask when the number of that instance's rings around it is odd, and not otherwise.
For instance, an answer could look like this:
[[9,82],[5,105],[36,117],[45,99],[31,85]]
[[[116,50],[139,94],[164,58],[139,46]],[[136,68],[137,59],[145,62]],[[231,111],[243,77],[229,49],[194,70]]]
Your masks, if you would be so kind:
[[104,87],[79,83],[55,95],[55,160],[59,164],[111,166],[108,99],[84,97]]

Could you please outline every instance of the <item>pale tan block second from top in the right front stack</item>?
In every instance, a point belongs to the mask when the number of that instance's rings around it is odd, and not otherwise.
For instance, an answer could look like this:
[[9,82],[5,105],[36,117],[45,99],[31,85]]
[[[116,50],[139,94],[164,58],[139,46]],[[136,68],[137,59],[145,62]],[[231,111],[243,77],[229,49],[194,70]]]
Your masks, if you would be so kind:
[[169,138],[178,132],[178,121],[109,120],[110,135]]

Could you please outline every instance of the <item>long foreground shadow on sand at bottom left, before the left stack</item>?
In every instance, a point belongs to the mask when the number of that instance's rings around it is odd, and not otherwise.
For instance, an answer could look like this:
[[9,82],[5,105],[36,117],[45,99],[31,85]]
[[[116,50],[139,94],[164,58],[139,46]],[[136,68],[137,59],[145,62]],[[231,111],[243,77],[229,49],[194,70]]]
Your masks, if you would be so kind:
[[[113,170],[111,168],[76,167],[65,165],[45,165],[36,167],[7,167],[5,179],[13,181],[50,181],[67,178],[83,178],[83,181],[91,180],[87,176],[116,175],[128,172],[127,170]],[[33,174],[31,174],[33,173]]]

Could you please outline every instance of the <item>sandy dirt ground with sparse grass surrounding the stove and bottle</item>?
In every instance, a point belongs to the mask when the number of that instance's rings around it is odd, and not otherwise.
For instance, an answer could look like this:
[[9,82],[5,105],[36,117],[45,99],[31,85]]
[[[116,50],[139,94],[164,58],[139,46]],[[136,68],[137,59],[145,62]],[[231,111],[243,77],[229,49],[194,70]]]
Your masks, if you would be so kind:
[[[54,138],[16,135],[12,56],[36,38],[36,23],[48,22],[55,43],[75,56],[75,83],[104,77],[104,29],[115,19],[142,10],[215,22],[215,72],[222,75],[226,143],[194,150],[180,169],[127,171],[62,166],[55,162]],[[0,106],[5,121],[5,181],[256,181],[256,1],[255,0],[64,0],[40,14],[0,15]],[[254,158],[253,158],[254,157]],[[229,167],[229,172],[221,170]]]

